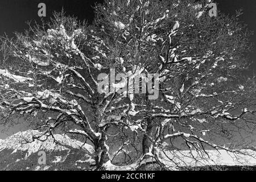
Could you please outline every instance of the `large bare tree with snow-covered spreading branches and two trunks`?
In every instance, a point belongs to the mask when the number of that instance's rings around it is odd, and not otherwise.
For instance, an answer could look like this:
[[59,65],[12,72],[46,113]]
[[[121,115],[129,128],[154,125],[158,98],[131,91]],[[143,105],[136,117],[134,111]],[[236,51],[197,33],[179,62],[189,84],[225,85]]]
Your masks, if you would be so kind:
[[2,38],[3,118],[40,118],[43,135],[92,144],[92,169],[174,169],[209,162],[210,149],[243,153],[249,141],[222,139],[254,132],[254,78],[243,73],[250,32],[237,16],[210,17],[210,3],[109,0],[92,26],[56,13]]

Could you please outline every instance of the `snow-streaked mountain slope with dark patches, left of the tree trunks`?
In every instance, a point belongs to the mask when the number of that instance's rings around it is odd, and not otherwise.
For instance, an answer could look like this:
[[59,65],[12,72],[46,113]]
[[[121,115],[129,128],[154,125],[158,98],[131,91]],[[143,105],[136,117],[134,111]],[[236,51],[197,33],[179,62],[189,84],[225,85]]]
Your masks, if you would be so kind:
[[[53,137],[33,141],[32,136],[39,134],[28,130],[0,140],[0,170],[80,170],[94,163],[89,144],[59,134],[54,135],[57,142]],[[39,151],[46,152],[46,165],[38,163]]]

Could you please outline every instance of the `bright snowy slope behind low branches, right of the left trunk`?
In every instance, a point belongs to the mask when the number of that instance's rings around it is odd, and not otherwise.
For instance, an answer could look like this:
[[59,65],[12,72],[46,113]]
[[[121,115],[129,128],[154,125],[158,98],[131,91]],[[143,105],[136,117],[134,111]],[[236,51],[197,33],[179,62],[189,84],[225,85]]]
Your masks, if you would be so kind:
[[[207,154],[205,153],[207,152]],[[253,150],[240,150],[242,154],[234,154],[226,150],[205,150],[200,151],[177,151],[177,150],[164,150],[159,151],[160,162],[165,164],[169,170],[195,170],[203,169],[209,170],[255,170],[256,169],[256,152]],[[143,161],[142,163],[144,163]],[[158,168],[154,165],[155,159],[148,158],[146,160],[147,165],[141,167],[140,170],[144,169],[155,169]],[[108,162],[105,164],[105,168],[108,170],[116,171],[130,171],[135,170],[138,167],[136,163],[127,166],[115,166]],[[158,168],[160,169],[160,168]]]

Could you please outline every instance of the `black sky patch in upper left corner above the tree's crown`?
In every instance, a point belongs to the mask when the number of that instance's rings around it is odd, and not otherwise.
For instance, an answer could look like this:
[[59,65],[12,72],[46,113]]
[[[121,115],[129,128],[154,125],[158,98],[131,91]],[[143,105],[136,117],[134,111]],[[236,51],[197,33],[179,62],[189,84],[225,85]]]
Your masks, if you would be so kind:
[[93,19],[92,6],[95,2],[102,0],[0,0],[0,35],[3,32],[12,35],[11,32],[22,32],[27,28],[27,21],[40,22],[38,16],[38,4],[45,3],[47,16],[44,20],[49,20],[53,11],[61,11],[62,7],[68,15],[75,15],[80,20]]

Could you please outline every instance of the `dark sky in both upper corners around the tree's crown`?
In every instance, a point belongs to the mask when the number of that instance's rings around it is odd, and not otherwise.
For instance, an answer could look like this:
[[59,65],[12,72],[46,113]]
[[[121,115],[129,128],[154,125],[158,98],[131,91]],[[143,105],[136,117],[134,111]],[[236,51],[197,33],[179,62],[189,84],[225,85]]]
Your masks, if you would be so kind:
[[[46,3],[47,16],[44,20],[49,20],[53,11],[60,11],[62,8],[68,15],[77,16],[80,20],[92,22],[95,2],[103,0],[0,0],[0,35],[13,36],[12,32],[22,32],[28,28],[26,22],[40,21],[38,17],[38,4]],[[125,1],[125,0],[124,0]],[[168,0],[166,0],[168,1]],[[248,24],[249,30],[256,30],[256,1],[255,0],[216,0],[217,8],[225,14],[233,15],[236,10],[243,9],[241,21]],[[256,32],[255,32],[256,34]],[[256,35],[251,36],[251,42],[256,43]],[[251,60],[256,60],[256,53],[251,53]],[[256,61],[252,65],[256,71]],[[16,130],[19,130],[16,128]],[[15,131],[13,131],[15,133]],[[0,138],[6,137],[1,133]]]

